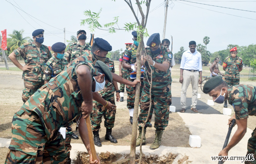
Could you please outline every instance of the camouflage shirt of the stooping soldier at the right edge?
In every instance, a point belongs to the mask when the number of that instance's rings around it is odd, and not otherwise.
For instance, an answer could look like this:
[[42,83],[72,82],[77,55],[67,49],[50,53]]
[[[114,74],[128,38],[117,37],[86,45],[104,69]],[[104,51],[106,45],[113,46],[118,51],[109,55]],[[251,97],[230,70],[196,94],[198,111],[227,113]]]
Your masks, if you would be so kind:
[[236,119],[256,116],[256,87],[251,85],[228,86],[229,104],[233,106]]

